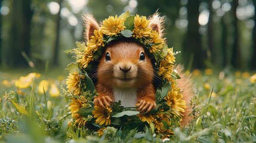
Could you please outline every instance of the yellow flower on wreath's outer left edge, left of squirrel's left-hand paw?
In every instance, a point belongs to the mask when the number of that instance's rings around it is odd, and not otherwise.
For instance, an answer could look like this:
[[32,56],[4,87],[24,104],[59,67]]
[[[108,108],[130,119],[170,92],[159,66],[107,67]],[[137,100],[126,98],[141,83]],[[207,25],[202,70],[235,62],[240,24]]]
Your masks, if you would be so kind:
[[74,98],[70,102],[68,109],[71,110],[72,114],[78,113],[78,111],[84,106],[85,102],[85,97],[81,97],[81,100]]

